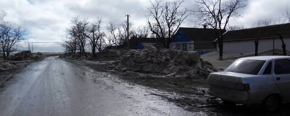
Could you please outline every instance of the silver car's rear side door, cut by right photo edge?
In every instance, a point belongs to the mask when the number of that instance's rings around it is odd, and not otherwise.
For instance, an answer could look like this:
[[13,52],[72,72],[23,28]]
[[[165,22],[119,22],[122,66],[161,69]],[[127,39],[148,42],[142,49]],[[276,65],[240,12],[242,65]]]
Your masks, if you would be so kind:
[[278,59],[274,62],[274,78],[275,84],[280,89],[284,101],[290,100],[290,60]]

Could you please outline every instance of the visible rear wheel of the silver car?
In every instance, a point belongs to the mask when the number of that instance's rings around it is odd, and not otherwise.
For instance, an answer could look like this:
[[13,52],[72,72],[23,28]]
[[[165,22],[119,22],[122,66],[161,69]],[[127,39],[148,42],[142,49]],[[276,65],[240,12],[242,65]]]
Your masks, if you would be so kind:
[[275,111],[279,108],[281,102],[280,98],[277,95],[269,95],[264,100],[264,107],[268,111]]

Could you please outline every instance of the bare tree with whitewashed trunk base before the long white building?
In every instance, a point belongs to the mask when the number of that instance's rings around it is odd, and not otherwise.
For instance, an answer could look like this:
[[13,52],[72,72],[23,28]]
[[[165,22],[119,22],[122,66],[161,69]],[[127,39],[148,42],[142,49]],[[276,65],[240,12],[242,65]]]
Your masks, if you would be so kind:
[[223,33],[229,19],[242,17],[241,8],[246,6],[247,0],[196,0],[197,26],[209,25],[215,29],[220,50],[219,60],[223,60]]

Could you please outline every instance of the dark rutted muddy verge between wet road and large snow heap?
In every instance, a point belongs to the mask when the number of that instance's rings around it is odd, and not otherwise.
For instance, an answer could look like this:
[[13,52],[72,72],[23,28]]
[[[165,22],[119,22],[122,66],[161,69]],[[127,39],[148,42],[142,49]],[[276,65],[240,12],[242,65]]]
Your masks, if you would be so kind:
[[[106,72],[123,79],[131,85],[148,87],[152,95],[160,96],[168,102],[191,112],[203,115],[287,115],[290,104],[284,104],[280,110],[266,112],[262,107],[247,107],[242,104],[230,105],[223,100],[207,94],[206,79],[177,79],[163,75],[119,72],[109,67],[113,61],[77,61],[67,60],[79,66],[87,66],[92,70]],[[104,75],[106,76],[106,75]]]

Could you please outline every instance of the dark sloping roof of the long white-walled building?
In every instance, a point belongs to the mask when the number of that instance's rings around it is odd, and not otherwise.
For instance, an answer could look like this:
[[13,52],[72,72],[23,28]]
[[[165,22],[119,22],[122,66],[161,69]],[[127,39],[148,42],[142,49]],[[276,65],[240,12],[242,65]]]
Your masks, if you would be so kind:
[[259,31],[259,38],[279,37],[279,32],[283,36],[290,36],[290,23],[227,31],[223,40],[255,39]]

